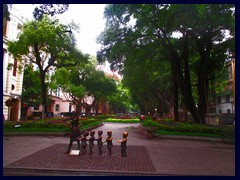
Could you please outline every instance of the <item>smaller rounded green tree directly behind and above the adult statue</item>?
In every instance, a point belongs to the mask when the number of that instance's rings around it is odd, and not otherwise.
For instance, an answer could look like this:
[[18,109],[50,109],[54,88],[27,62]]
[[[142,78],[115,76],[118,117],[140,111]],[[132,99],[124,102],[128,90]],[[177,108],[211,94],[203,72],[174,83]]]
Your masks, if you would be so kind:
[[[62,91],[69,93],[77,105],[78,114],[81,114],[81,107],[85,107],[87,114],[95,107],[97,114],[98,103],[106,101],[114,93],[116,85],[102,71],[96,70],[88,55],[85,60],[84,64],[80,63],[75,67],[57,69],[51,79],[51,88],[61,88]],[[91,97],[91,104],[85,102],[87,96]]]

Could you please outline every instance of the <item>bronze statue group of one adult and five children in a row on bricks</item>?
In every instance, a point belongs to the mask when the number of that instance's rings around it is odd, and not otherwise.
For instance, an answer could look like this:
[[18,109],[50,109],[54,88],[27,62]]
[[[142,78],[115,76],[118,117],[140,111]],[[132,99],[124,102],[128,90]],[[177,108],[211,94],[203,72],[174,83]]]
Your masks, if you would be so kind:
[[[111,155],[112,154],[112,146],[113,146],[112,131],[110,131],[110,130],[107,131],[108,137],[104,142],[102,141],[103,131],[101,131],[101,130],[98,131],[97,138],[94,137],[95,131],[90,131],[90,132],[85,131],[82,134],[83,136],[81,136],[79,128],[78,128],[79,121],[76,117],[77,117],[76,113],[72,113],[72,115],[70,116],[70,118],[72,120],[70,123],[68,123],[69,125],[71,125],[70,143],[69,143],[67,151],[65,151],[64,154],[70,154],[71,147],[72,147],[72,144],[74,141],[77,141],[77,148],[78,148],[78,150],[80,150],[81,154],[87,153],[87,146],[88,146],[89,154],[92,154],[93,147],[94,147],[94,141],[97,141],[98,154],[102,155],[103,144],[107,142],[108,154]],[[90,134],[90,138],[87,138],[89,136],[89,134]],[[123,138],[121,140],[117,140],[117,142],[121,143],[121,156],[122,157],[127,156],[127,154],[126,154],[127,136],[128,136],[128,133],[124,132]],[[87,141],[89,142],[89,144],[87,143]]]

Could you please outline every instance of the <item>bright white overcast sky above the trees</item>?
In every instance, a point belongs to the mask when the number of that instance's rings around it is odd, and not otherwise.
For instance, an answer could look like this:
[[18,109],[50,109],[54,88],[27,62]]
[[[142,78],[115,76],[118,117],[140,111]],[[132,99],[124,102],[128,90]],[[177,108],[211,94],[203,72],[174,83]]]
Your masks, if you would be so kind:
[[[66,12],[58,16],[63,24],[68,24],[72,20],[79,24],[80,30],[75,34],[77,39],[77,48],[84,54],[96,56],[96,52],[100,49],[97,44],[97,36],[104,30],[105,19],[103,12],[105,4],[70,4]],[[13,4],[19,13],[33,20],[33,10],[36,5],[32,4]]]

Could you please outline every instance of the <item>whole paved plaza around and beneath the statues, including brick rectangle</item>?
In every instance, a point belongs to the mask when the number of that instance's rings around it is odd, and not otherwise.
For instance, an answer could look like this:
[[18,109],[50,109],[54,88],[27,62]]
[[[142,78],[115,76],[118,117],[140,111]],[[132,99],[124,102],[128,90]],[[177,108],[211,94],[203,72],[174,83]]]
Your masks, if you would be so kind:
[[[214,139],[147,139],[139,124],[105,123],[94,129],[113,132],[113,152],[79,156],[62,152],[67,136],[4,136],[3,175],[134,175],[134,176],[235,176],[235,146]],[[128,132],[127,157],[121,157],[122,133]],[[95,137],[97,135],[95,134]],[[77,149],[74,142],[72,149]]]

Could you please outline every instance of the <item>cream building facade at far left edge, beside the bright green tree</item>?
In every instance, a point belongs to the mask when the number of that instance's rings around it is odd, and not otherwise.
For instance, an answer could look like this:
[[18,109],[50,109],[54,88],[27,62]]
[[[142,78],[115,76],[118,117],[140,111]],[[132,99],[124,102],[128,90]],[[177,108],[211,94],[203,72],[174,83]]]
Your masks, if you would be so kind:
[[23,73],[19,73],[18,61],[8,52],[8,41],[16,40],[22,30],[24,18],[9,7],[10,20],[3,18],[3,116],[5,120],[18,121],[21,112]]

